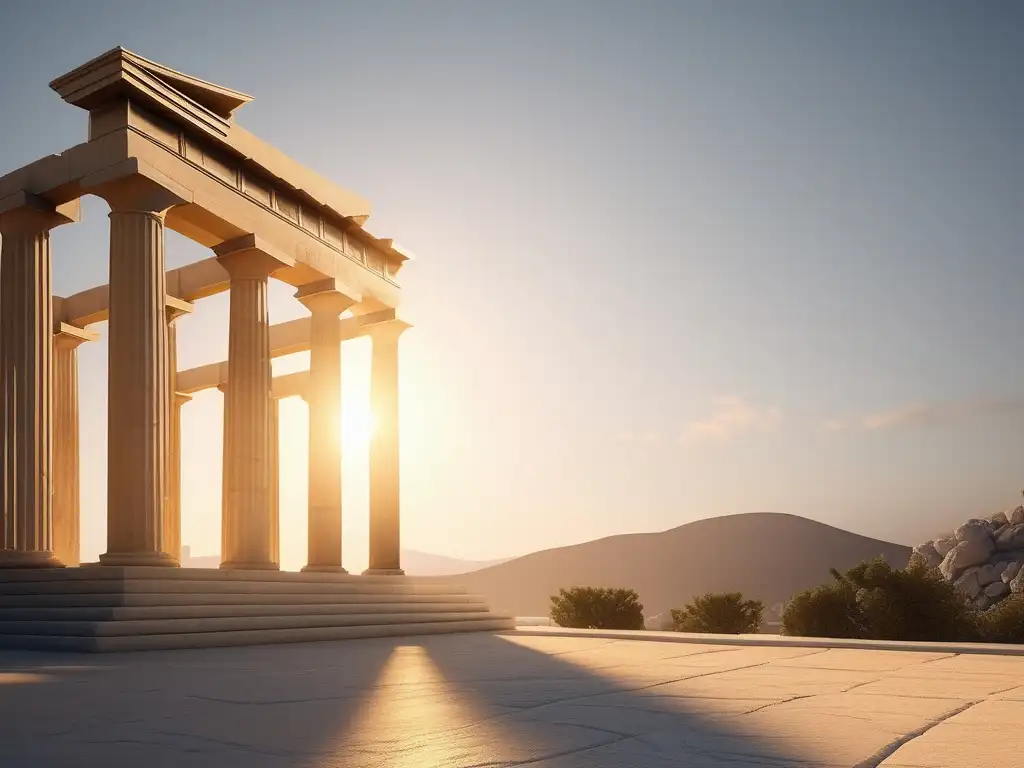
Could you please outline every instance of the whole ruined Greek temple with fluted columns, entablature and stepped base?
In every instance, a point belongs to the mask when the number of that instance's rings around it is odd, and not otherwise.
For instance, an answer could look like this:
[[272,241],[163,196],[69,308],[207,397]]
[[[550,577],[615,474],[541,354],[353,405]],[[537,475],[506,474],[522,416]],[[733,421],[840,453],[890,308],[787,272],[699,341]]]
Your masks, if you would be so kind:
[[[185,647],[347,637],[353,628],[366,636],[413,625],[417,631],[506,626],[457,588],[401,575],[398,342],[409,324],[397,311],[397,275],[411,255],[367,230],[369,203],[242,128],[236,113],[250,96],[125,49],[50,87],[88,113],[88,136],[0,177],[0,611],[30,611],[15,622],[0,615],[0,645]],[[110,282],[55,297],[50,231],[79,219],[86,195],[110,206]],[[165,227],[209,248],[210,257],[168,271]],[[308,317],[270,326],[270,280],[294,286]],[[224,291],[230,302],[226,361],[178,371],[176,321]],[[89,327],[102,321],[106,551],[99,563],[73,568],[66,566],[79,565],[77,350],[98,338]],[[341,561],[340,374],[342,342],[356,337],[373,345],[376,430],[370,568],[349,575]],[[273,378],[273,357],[303,350],[308,371]],[[224,395],[222,563],[219,570],[185,572],[174,567],[181,549],[181,411],[193,393],[214,387]],[[309,410],[309,546],[302,573],[279,571],[278,401],[292,395]],[[97,624],[74,612],[97,607],[83,595],[131,596],[140,580],[153,599],[136,607],[162,608],[146,615],[188,620],[190,629],[141,628],[140,618],[123,617]],[[224,597],[239,589],[256,601]],[[195,595],[195,604],[182,593]],[[213,604],[210,596],[218,594],[223,615],[185,610]],[[353,613],[344,596],[355,594],[359,604],[374,595],[402,600],[387,624],[379,611],[370,618]],[[319,602],[311,600],[316,595],[324,596]],[[321,612],[305,623],[279,615],[270,608],[283,596]],[[262,611],[239,607],[260,599],[267,606]],[[46,606],[71,612],[40,624],[42,614],[31,611]],[[337,610],[324,612],[324,606]],[[357,621],[339,618],[353,615]],[[292,634],[267,635],[267,628]],[[379,631],[368,632],[374,628]],[[121,642],[96,640],[112,636]]]

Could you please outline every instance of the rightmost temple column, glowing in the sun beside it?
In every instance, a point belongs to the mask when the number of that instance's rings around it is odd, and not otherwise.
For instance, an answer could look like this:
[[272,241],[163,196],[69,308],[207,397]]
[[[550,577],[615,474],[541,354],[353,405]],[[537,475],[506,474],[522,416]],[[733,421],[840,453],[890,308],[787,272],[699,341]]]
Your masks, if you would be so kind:
[[401,575],[398,514],[398,338],[400,321],[370,332],[370,398],[376,428],[370,438],[370,575]]

